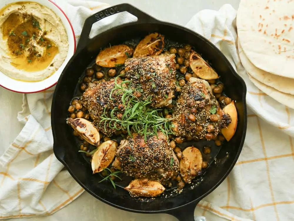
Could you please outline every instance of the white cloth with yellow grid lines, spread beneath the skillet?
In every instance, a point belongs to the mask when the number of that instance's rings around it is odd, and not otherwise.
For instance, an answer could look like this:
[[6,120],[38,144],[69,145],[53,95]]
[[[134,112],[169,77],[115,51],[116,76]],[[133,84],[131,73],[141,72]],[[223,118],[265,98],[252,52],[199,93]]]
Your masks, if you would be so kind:
[[[69,16],[77,40],[84,19],[108,6],[96,1],[56,3]],[[294,220],[293,110],[274,102],[248,79],[238,57],[235,16],[235,9],[226,4],[219,11],[200,11],[187,24],[213,42],[243,77],[249,107],[240,158],[225,181],[198,204],[195,220]],[[130,19],[134,18],[126,14],[103,19],[93,26],[92,35]],[[67,171],[61,171],[52,152],[53,91],[24,95],[18,116],[24,129],[0,157],[0,219],[50,215],[83,192]]]

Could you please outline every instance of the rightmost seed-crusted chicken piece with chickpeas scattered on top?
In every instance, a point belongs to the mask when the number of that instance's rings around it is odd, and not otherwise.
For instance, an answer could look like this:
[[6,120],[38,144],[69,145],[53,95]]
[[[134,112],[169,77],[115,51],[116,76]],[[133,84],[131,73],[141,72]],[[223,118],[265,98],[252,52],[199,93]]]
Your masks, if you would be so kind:
[[231,122],[230,115],[220,108],[208,82],[195,77],[183,86],[173,117],[174,134],[196,140],[212,140]]

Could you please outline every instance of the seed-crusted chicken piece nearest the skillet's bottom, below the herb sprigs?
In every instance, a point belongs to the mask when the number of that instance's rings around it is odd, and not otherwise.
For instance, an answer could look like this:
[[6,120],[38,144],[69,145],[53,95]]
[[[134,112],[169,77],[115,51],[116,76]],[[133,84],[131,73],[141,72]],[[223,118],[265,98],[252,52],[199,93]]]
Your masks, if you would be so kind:
[[[173,158],[173,160],[172,160]],[[116,151],[113,167],[135,178],[148,178],[163,185],[171,185],[170,179],[178,173],[179,161],[162,132],[144,136],[133,134],[122,140]]]

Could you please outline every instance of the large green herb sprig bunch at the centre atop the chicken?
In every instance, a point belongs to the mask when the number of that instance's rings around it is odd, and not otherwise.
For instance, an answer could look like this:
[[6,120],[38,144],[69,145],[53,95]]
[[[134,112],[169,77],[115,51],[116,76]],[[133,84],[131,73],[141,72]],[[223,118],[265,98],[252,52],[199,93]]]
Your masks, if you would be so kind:
[[[119,76],[117,76],[119,77]],[[125,80],[120,84],[117,83],[117,77],[114,81],[114,88],[110,93],[110,99],[114,100],[113,95],[121,94],[121,102],[125,107],[122,117],[118,118],[116,113],[119,112],[117,107],[113,108],[111,112],[108,111],[108,106],[104,108],[104,113],[101,116],[101,121],[104,122],[104,128],[108,125],[111,129],[127,130],[128,135],[132,136],[131,131],[144,135],[146,141],[147,136],[156,135],[157,131],[161,130],[166,136],[171,134],[173,118],[164,118],[161,109],[153,109],[149,106],[151,103],[151,96],[147,100],[140,100],[133,91],[138,90],[130,87],[130,81]],[[129,86],[127,86],[128,84]]]

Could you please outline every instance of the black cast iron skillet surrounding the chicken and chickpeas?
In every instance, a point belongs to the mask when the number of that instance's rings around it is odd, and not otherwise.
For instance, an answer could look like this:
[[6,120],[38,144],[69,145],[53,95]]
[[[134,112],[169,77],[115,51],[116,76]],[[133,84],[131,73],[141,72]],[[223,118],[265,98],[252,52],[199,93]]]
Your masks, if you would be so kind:
[[[138,20],[119,25],[89,39],[89,33],[95,22],[123,11],[135,15]],[[78,80],[86,67],[93,63],[100,48],[108,47],[109,43],[115,45],[126,40],[143,38],[151,32],[159,32],[176,42],[191,44],[211,62],[221,76],[226,94],[236,101],[238,127],[234,137],[223,144],[215,162],[206,170],[201,183],[193,189],[186,185],[181,194],[172,197],[162,196],[148,202],[133,199],[126,190],[119,187],[114,189],[108,182],[98,183],[101,177],[92,174],[91,167],[83,159],[82,154],[78,153],[72,129],[66,124],[66,118]],[[77,51],[66,65],[56,85],[51,108],[54,154],[86,191],[113,207],[130,212],[167,213],[182,221],[192,221],[197,203],[223,182],[241,152],[247,127],[245,96],[246,85],[243,79],[237,75],[220,50],[207,39],[185,27],[158,21],[130,4],[112,6],[86,19]],[[197,146],[197,143],[194,146]]]

